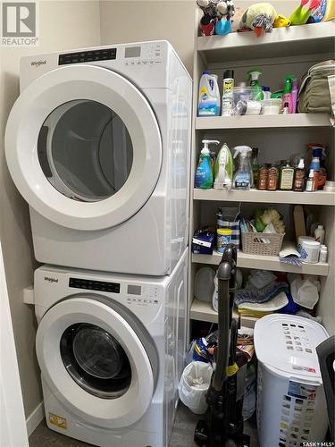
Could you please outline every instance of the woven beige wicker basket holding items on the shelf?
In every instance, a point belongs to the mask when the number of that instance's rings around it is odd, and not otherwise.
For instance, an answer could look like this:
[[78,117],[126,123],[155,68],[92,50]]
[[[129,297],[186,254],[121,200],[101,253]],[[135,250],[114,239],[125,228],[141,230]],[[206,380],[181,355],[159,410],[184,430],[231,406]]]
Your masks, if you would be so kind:
[[[242,232],[242,250],[249,255],[278,256],[285,234]],[[268,240],[268,243],[260,240]]]

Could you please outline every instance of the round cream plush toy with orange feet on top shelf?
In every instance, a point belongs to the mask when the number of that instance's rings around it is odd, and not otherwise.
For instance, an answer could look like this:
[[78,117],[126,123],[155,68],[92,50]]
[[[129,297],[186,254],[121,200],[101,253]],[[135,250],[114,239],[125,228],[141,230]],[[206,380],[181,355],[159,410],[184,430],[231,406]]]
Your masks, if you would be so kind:
[[277,15],[270,3],[253,4],[240,18],[239,30],[255,30],[257,37],[260,37],[263,32],[272,31],[272,23]]

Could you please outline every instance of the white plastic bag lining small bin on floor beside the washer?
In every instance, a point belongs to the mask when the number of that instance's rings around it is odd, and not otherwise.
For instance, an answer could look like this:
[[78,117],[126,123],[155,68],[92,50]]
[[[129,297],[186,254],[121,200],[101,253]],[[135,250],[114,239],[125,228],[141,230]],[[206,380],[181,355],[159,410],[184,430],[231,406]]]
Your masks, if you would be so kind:
[[212,372],[213,367],[210,363],[191,362],[180,377],[178,386],[180,401],[197,415],[205,413],[208,407],[205,393],[211,383]]

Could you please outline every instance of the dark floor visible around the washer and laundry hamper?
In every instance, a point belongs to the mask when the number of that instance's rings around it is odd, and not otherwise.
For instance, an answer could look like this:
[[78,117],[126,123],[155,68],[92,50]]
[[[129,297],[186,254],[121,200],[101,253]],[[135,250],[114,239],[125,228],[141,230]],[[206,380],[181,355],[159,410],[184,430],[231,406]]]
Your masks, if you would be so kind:
[[[198,416],[194,415],[180,403],[173,427],[169,447],[195,447],[193,443],[194,428]],[[250,447],[258,447],[255,421],[245,424],[245,433],[250,436]],[[80,443],[74,439],[49,430],[43,420],[33,434],[29,436],[29,447],[91,447],[88,443]],[[129,446],[132,447],[132,446]],[[135,447],[135,446],[134,446]]]

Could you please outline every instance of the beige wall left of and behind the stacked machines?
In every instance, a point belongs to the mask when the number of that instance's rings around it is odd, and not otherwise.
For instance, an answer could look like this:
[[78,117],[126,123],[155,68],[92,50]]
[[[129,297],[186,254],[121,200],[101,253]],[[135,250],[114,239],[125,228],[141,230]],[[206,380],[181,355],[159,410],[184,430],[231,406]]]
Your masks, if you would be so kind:
[[19,95],[21,56],[99,44],[97,0],[41,1],[40,46],[0,49],[0,228],[26,416],[42,400],[35,356],[35,316],[32,306],[22,302],[22,289],[33,283],[34,258],[28,207],[15,189],[4,160],[4,126]]

